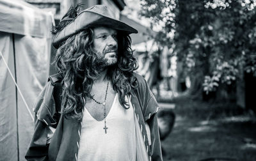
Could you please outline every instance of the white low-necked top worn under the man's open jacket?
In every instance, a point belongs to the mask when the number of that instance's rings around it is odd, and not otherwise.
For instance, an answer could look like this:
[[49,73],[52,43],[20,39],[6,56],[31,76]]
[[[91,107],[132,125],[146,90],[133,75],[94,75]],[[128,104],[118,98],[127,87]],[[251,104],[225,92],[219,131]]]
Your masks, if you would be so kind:
[[[127,97],[126,97],[127,98]],[[131,102],[129,102],[131,104]],[[84,108],[77,160],[136,160],[136,131],[134,111],[124,109],[116,93],[111,109],[104,120],[97,121]]]

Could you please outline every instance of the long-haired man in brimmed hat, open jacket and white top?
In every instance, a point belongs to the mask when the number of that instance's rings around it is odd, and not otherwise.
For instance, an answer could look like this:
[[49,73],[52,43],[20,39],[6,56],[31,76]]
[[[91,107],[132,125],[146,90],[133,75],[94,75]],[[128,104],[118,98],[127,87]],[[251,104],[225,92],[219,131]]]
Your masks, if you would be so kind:
[[27,160],[163,160],[157,102],[106,6],[70,8],[53,31],[58,74],[35,105]]

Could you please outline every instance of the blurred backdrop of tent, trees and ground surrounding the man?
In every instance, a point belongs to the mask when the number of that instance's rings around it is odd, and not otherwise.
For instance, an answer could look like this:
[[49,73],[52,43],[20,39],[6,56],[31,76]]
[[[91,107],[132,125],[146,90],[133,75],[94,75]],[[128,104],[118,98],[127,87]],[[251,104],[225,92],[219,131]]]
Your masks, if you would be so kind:
[[139,31],[164,160],[256,160],[255,0],[0,0],[0,160],[25,160],[33,104],[56,73],[51,28],[78,3]]

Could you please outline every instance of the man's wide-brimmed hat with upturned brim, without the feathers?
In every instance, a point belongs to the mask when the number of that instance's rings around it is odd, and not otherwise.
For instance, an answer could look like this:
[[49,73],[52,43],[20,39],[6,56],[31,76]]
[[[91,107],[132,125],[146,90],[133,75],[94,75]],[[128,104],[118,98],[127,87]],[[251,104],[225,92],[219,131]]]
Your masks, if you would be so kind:
[[52,40],[52,45],[57,49],[60,46],[60,43],[67,40],[69,36],[72,36],[87,27],[96,26],[111,27],[112,29],[122,31],[125,34],[138,33],[133,27],[120,20],[116,20],[111,15],[107,6],[95,5],[81,11],[70,24],[56,33]]

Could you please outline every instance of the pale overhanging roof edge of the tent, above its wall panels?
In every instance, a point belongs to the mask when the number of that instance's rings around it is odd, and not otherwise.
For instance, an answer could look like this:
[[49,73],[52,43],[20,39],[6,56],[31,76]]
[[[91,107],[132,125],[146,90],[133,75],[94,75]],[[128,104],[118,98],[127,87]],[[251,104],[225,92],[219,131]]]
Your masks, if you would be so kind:
[[[51,37],[49,13],[21,0],[0,0],[0,31],[40,38]],[[4,23],[3,23],[4,22]]]

